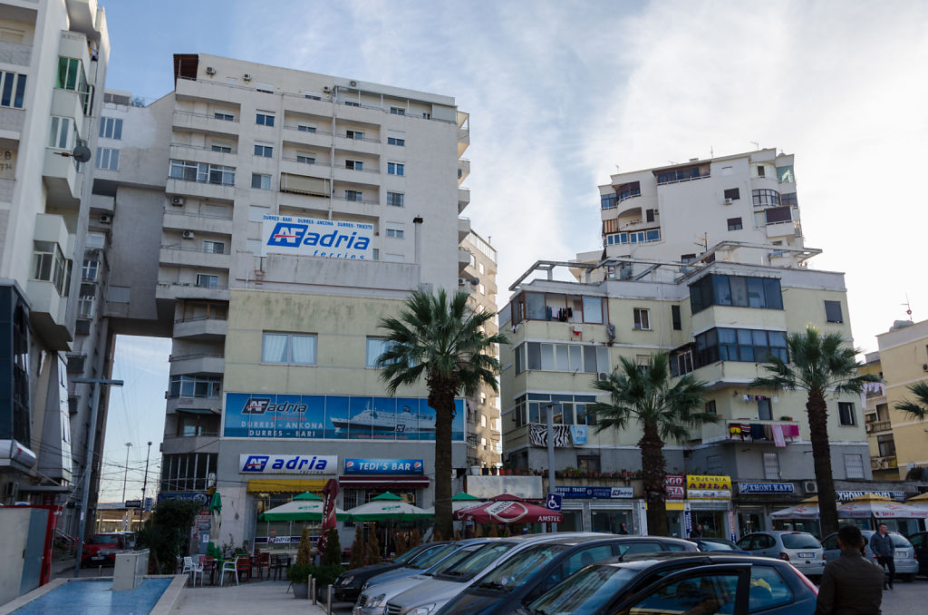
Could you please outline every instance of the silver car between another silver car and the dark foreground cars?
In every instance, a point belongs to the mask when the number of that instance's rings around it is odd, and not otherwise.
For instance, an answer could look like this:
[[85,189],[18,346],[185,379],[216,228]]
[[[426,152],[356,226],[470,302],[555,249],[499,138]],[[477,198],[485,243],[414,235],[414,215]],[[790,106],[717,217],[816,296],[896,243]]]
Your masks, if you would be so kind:
[[[441,573],[432,575],[427,581],[409,580],[410,586],[389,599],[384,612],[389,615],[400,613],[414,613],[414,615],[430,615],[442,608],[445,603],[455,597],[474,579],[486,570],[506,561],[523,549],[536,543],[547,543],[565,536],[590,536],[602,538],[602,534],[593,532],[531,534],[515,538],[501,538],[491,544],[484,544],[473,552],[470,557],[462,559]],[[355,607],[358,609],[360,607]],[[360,615],[355,610],[355,615]]]

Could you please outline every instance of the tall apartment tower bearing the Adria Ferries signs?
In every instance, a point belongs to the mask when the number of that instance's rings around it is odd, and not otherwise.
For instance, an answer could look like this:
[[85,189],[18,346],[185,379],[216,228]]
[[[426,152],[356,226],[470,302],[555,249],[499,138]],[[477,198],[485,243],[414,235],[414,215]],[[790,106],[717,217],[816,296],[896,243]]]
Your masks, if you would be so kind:
[[117,105],[121,141],[97,152],[110,334],[172,338],[160,497],[216,489],[222,527],[204,533],[283,546],[286,524],[257,516],[329,478],[345,508],[387,490],[432,505],[427,390],[389,396],[374,362],[410,290],[458,288],[468,114],[205,54],[175,55],[174,78],[146,107]]

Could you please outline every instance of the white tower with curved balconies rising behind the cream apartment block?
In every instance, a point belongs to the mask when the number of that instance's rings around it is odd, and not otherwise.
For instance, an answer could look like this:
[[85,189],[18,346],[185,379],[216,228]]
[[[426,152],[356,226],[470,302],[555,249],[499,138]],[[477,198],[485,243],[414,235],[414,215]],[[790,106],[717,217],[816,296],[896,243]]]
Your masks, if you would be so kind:
[[[719,242],[803,246],[793,154],[691,158],[610,179],[599,186],[606,255],[690,262]],[[780,265],[795,254],[763,257]]]

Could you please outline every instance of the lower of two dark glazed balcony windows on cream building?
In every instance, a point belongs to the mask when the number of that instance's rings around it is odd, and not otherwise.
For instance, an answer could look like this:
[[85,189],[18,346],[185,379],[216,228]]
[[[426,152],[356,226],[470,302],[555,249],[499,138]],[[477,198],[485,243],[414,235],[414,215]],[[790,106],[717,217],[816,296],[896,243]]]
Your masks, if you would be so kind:
[[696,336],[696,367],[719,360],[763,363],[770,356],[789,361],[786,334],[780,331],[719,327]]

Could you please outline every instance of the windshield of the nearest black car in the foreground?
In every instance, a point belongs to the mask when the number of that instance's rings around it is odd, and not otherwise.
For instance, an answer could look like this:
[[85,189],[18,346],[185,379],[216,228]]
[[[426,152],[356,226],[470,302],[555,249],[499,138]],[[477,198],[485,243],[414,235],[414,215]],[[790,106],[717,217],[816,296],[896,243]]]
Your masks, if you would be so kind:
[[586,615],[618,594],[637,572],[614,566],[590,566],[555,585],[529,609],[538,615]]

